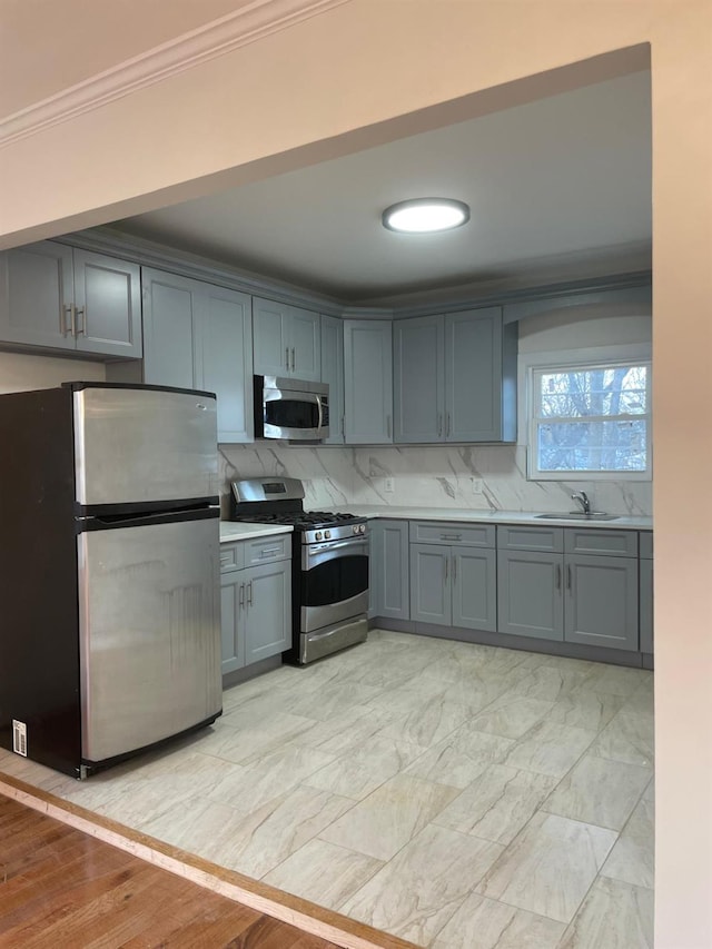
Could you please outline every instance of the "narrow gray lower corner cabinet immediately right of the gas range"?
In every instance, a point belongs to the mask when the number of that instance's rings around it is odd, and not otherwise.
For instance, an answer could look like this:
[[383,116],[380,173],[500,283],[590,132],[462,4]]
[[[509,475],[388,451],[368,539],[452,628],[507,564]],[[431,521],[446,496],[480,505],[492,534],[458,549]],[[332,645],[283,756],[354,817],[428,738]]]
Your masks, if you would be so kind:
[[372,521],[368,534],[369,615],[408,620],[408,522]]

